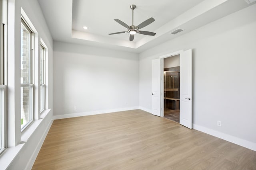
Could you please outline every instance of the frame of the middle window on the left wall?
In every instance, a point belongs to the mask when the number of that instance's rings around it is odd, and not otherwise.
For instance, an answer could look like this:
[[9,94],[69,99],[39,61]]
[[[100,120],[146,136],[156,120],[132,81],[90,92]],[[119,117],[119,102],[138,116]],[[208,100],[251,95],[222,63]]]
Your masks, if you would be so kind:
[[[26,127],[28,127],[34,121],[34,31],[31,29],[31,27],[26,22],[26,20],[23,18],[23,16],[21,16],[21,24],[30,33],[29,79],[28,79],[28,83],[20,82],[20,87],[21,87],[20,89],[22,89],[23,87],[29,88],[28,111],[29,111],[30,119],[23,127],[21,127],[21,132],[22,132],[22,131],[24,131],[24,129],[26,129]],[[22,65],[22,61],[20,61],[20,63]],[[20,109],[22,109],[22,106],[23,105],[20,104]]]

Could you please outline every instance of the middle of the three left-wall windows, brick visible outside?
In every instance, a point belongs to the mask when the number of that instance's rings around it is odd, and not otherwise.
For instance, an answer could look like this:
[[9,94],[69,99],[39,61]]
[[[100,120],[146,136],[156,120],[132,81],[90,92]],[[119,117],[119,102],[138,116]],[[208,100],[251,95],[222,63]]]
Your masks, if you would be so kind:
[[22,19],[21,22],[21,129],[33,120],[33,32]]

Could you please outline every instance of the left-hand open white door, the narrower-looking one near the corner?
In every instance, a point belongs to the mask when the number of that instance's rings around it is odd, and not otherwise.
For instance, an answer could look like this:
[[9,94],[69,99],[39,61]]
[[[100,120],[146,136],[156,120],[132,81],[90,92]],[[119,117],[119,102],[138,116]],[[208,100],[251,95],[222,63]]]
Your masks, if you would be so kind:
[[152,60],[151,81],[151,113],[161,116],[161,59]]

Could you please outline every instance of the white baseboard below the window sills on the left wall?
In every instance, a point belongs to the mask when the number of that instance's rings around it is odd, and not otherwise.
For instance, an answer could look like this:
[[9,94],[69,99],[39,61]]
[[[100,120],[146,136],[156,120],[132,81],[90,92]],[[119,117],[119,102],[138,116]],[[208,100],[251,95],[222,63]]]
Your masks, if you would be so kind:
[[48,125],[47,125],[47,127],[46,127],[46,129],[44,131],[44,134],[42,135],[40,141],[38,142],[38,145],[36,146],[33,154],[31,155],[25,170],[31,170],[32,169],[32,167],[34,165],[34,162],[36,160],[36,157],[37,157],[37,155],[38,155],[38,153],[39,153],[39,151],[40,151],[40,149],[41,149],[41,147],[42,147],[42,145],[44,143],[44,139],[46,138],[46,135],[48,134],[48,132],[50,130],[50,127],[52,126],[52,122],[53,121],[54,121],[54,119],[52,117],[51,121],[48,123]]

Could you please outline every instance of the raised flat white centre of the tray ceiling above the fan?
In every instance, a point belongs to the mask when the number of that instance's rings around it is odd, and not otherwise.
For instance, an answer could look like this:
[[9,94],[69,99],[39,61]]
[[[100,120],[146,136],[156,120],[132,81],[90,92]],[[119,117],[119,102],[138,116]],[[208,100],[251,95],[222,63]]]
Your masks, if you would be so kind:
[[[149,2],[140,0],[134,2],[134,25],[139,25],[150,17],[156,21],[144,27],[142,30],[155,31],[168,21],[176,18],[186,10],[196,6],[203,0],[161,0]],[[129,40],[128,34],[108,35],[108,33],[127,31],[125,27],[114,21],[119,19],[127,25],[132,25],[132,10],[130,9],[131,1],[120,0],[73,0],[72,10],[72,29],[84,31],[104,37],[114,39]],[[92,7],[92,8],[88,8]],[[87,25],[88,30],[83,26]],[[134,42],[138,42],[146,35],[135,35]]]

